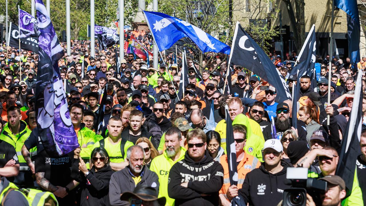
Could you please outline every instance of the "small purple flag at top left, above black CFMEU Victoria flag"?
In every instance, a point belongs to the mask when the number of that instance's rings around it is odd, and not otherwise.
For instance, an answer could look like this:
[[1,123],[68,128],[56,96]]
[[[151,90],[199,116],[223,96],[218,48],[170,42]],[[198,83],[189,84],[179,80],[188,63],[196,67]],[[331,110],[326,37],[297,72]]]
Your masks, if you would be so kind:
[[19,8],[19,38],[38,37],[38,21],[32,15]]

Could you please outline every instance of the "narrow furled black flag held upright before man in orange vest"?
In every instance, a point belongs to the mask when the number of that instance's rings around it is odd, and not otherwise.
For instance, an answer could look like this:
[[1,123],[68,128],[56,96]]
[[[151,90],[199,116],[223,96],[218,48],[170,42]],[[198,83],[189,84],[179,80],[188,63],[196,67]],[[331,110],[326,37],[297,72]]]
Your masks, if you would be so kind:
[[[236,163],[236,150],[234,131],[232,129],[232,121],[229,114],[229,107],[225,105],[225,121],[226,121],[226,154],[228,158],[229,181],[230,185],[238,184],[238,163]],[[246,205],[243,198],[236,196],[232,198],[231,205]]]

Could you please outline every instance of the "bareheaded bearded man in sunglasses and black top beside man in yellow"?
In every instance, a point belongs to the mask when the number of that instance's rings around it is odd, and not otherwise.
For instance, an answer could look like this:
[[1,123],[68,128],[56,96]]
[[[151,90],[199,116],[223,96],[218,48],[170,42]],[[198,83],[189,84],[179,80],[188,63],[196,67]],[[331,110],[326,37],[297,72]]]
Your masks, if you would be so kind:
[[261,126],[264,140],[272,139],[271,124],[268,121],[263,120],[264,104],[262,102],[254,102],[249,110],[249,118],[256,121]]

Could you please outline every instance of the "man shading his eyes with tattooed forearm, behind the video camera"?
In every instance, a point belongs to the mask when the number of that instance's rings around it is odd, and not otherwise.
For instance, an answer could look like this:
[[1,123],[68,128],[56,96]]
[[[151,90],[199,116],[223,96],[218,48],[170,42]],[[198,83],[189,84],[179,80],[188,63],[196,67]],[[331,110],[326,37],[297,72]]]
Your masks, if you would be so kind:
[[[309,168],[311,163],[313,163],[316,158],[318,158],[319,160],[319,166],[321,170],[321,173],[318,174],[318,177],[325,177],[336,174],[339,155],[338,152],[335,150],[335,148],[330,146],[325,146],[322,149],[311,150],[304,157],[302,157],[294,166]],[[351,195],[344,200],[344,203],[342,204],[343,206],[360,205],[360,203],[363,202],[361,188],[359,187],[356,178],[357,177],[355,177],[355,181],[352,185]]]

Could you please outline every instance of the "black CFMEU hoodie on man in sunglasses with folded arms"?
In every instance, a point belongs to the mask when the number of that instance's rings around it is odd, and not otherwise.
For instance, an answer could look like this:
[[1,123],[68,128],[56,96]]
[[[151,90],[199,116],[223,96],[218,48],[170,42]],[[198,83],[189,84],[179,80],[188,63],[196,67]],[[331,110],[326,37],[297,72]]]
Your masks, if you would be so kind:
[[[169,173],[168,195],[175,205],[219,205],[219,190],[224,183],[224,169],[205,152],[199,162],[188,155],[175,163]],[[188,182],[187,187],[180,184]],[[202,196],[202,194],[205,194]]]

